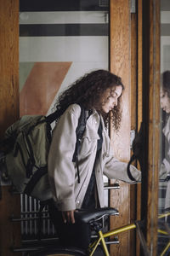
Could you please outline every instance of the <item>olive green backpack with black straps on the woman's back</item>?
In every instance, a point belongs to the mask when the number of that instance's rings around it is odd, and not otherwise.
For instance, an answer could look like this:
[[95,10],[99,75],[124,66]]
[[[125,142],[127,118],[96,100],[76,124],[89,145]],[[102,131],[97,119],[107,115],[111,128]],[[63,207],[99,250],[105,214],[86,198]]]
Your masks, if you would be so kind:
[[[73,161],[77,162],[82,133],[86,126],[86,111],[81,107],[77,125],[77,143]],[[25,115],[5,131],[1,154],[1,178],[10,180],[20,193],[32,195],[40,201],[48,200],[48,151],[51,143],[51,124],[59,114]],[[78,166],[77,166],[78,170]],[[79,173],[78,173],[79,174]]]

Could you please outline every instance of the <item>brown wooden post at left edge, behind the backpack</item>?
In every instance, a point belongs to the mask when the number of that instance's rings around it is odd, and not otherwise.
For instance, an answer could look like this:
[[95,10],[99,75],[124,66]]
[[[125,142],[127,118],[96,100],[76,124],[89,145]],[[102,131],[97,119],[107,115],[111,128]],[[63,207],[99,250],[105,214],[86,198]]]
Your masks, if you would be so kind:
[[[19,1],[0,0],[0,137],[19,117]],[[19,246],[20,225],[9,216],[20,216],[20,197],[11,196],[3,186],[0,200],[0,254],[14,255],[11,246]],[[15,254],[19,255],[19,254]]]

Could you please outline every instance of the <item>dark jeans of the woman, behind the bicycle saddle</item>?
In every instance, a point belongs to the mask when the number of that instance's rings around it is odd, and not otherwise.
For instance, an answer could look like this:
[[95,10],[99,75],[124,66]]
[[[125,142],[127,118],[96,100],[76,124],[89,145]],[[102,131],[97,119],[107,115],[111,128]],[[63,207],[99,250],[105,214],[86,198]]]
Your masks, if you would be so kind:
[[53,201],[48,203],[49,216],[59,236],[59,243],[62,246],[81,247],[87,249],[90,242],[90,226],[76,219],[75,224],[65,224],[62,214],[54,206]]

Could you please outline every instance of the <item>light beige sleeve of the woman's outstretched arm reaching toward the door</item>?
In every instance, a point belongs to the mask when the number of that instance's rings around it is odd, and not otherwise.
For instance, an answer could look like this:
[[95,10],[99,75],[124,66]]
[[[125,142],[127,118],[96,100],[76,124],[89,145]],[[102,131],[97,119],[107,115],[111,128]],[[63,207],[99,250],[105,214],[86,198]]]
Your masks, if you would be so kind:
[[127,163],[117,160],[114,157],[109,137],[106,137],[109,144],[109,152],[105,153],[104,174],[108,178],[119,179],[127,183],[141,182],[141,172],[133,165],[130,166],[130,172],[136,181],[131,180],[127,175]]

